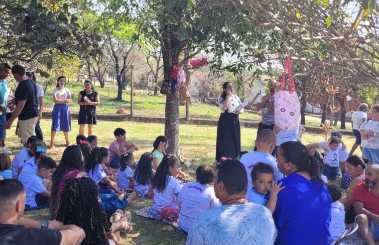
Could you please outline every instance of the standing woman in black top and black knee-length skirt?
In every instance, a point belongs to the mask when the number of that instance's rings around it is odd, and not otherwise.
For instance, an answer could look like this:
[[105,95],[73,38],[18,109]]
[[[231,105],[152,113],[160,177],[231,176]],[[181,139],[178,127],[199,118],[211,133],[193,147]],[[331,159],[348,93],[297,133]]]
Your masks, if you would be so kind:
[[84,81],[85,90],[78,95],[79,134],[84,134],[84,125],[88,124],[88,136],[93,134],[92,125],[96,124],[96,107],[100,105],[100,96],[90,80]]

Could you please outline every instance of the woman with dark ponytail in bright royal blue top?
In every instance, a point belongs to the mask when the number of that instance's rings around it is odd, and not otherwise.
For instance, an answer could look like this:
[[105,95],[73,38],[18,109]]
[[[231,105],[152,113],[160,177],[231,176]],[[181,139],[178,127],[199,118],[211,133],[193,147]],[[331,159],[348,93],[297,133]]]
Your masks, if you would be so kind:
[[275,244],[329,245],[332,200],[320,176],[320,162],[305,145],[288,141],[277,151],[285,186],[277,195],[274,218]]

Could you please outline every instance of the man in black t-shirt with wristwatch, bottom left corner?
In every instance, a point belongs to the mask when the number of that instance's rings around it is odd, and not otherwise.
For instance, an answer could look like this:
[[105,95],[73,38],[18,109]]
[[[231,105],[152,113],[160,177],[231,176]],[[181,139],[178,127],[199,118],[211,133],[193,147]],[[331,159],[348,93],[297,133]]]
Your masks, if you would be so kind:
[[1,245],[77,245],[86,237],[75,225],[21,218],[25,208],[25,190],[18,180],[0,181]]

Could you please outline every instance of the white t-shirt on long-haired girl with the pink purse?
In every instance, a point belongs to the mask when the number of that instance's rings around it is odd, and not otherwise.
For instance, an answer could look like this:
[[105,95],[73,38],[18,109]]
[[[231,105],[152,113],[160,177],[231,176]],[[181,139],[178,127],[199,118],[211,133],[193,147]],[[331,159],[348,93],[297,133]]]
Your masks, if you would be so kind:
[[162,211],[163,207],[170,206],[172,203],[171,207],[173,208],[178,208],[178,205],[176,204],[176,197],[175,195],[179,195],[180,192],[180,183],[177,179],[172,177],[171,175],[167,176],[167,186],[166,189],[163,190],[163,192],[158,192],[155,189],[153,189],[154,193],[154,207],[156,206],[156,209],[158,211]]

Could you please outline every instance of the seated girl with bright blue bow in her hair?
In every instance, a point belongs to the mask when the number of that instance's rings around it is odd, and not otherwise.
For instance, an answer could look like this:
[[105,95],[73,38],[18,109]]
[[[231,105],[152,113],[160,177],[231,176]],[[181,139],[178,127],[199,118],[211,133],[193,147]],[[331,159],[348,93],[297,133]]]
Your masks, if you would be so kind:
[[25,187],[26,181],[38,171],[39,160],[45,157],[46,145],[44,142],[38,141],[33,146],[33,156],[27,160],[21,173],[18,175],[18,181]]

